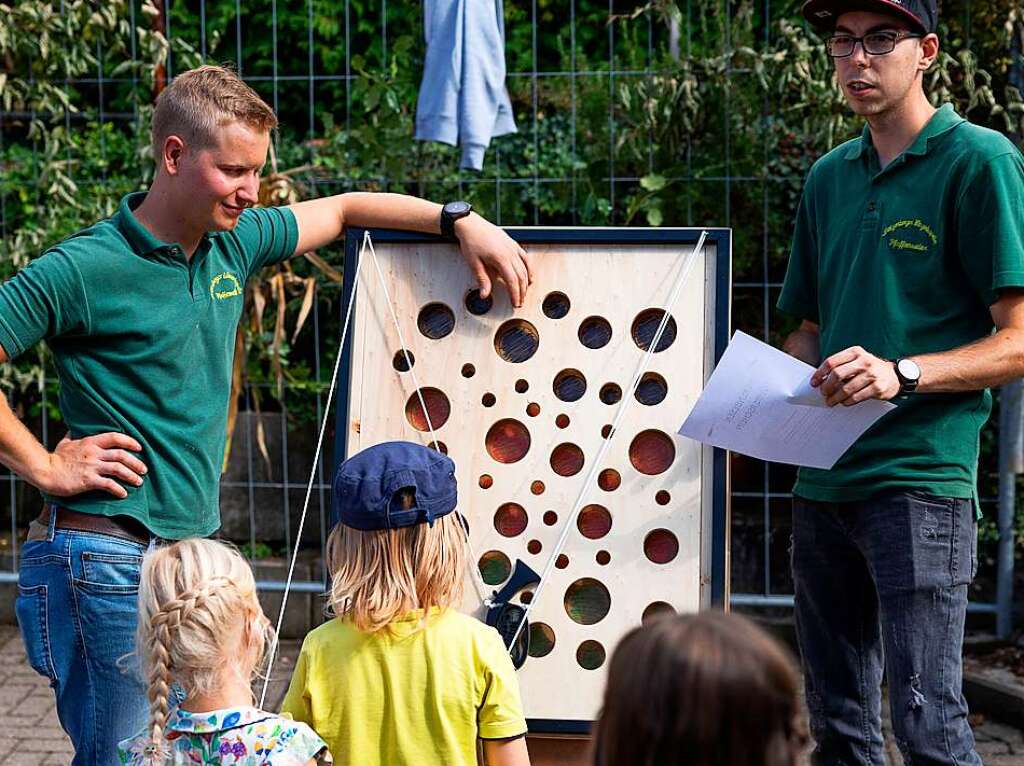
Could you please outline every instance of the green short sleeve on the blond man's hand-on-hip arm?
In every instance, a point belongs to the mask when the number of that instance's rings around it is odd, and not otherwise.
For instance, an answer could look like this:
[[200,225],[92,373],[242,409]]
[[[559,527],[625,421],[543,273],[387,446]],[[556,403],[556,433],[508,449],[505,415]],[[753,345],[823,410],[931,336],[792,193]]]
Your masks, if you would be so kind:
[[41,340],[88,329],[85,285],[63,251],[44,253],[0,285],[0,346],[11,359]]

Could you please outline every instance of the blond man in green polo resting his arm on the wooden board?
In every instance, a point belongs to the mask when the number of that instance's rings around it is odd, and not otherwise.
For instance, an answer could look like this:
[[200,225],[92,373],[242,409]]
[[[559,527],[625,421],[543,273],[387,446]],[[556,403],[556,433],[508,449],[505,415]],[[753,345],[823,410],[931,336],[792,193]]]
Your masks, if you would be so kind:
[[45,340],[68,435],[48,452],[0,395],[0,463],[42,491],[16,610],[79,766],[116,764],[145,720],[133,651],[139,561],[158,538],[220,523],[219,467],[246,281],[347,226],[455,236],[481,293],[520,305],[526,253],[465,203],[344,194],[257,209],[273,112],[232,72],[202,67],[157,99],[156,176],[109,219],[0,286],[0,363]]

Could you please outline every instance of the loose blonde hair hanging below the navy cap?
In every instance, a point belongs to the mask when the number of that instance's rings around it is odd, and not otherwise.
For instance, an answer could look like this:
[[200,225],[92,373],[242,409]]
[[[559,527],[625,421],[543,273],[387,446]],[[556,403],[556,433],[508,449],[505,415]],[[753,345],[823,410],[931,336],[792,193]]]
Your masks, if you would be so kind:
[[334,613],[376,633],[414,609],[426,620],[434,606],[458,604],[468,559],[463,524],[458,513],[392,529],[337,524],[327,541]]

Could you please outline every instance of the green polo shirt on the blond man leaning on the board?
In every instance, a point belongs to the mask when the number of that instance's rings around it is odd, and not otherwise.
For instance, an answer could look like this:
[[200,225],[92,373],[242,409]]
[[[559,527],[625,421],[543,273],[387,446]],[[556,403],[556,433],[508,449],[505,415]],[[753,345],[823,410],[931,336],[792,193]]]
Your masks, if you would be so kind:
[[0,346],[14,358],[53,351],[60,412],[74,438],[133,436],[148,473],[117,500],[103,492],[46,498],[86,513],[132,516],[164,538],[220,525],[234,331],[244,286],[298,242],[286,208],[247,210],[203,238],[191,259],[135,219],[144,193],[0,286]]

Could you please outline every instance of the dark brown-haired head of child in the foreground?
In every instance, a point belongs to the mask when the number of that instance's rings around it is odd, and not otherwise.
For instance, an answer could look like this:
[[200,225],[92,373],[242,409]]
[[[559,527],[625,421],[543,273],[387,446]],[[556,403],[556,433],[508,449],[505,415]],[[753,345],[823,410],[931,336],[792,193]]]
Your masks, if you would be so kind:
[[595,766],[794,766],[807,736],[793,661],[743,618],[662,616],[608,669]]

